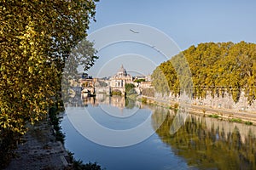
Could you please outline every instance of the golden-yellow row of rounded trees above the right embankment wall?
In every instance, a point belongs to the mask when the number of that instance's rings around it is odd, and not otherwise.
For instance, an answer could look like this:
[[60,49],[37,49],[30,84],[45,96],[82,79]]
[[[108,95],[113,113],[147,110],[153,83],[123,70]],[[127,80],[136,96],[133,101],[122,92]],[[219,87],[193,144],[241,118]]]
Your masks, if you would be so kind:
[[[187,62],[182,62],[183,57]],[[187,65],[188,63],[188,65]],[[188,67],[188,69],[185,69]],[[251,104],[256,95],[256,44],[248,42],[206,42],[194,45],[160,64],[152,74],[157,92],[180,94],[192,87],[193,97],[204,98],[207,92],[232,95],[237,102],[241,90]]]

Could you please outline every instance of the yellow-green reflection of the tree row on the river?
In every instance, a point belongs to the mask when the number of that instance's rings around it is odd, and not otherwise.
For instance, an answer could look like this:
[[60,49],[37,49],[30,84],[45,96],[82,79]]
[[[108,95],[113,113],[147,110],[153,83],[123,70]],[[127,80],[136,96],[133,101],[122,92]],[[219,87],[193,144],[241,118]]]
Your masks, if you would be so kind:
[[[165,113],[165,112],[164,112]],[[155,110],[152,125],[160,139],[169,144],[178,156],[183,156],[189,166],[218,169],[256,169],[255,127],[189,115],[183,127],[171,135],[170,127],[175,113],[170,111],[163,118],[161,110]],[[212,123],[209,123],[212,122]],[[226,128],[226,129],[224,129]],[[241,136],[241,131],[243,136]],[[247,135],[244,135],[244,134]]]

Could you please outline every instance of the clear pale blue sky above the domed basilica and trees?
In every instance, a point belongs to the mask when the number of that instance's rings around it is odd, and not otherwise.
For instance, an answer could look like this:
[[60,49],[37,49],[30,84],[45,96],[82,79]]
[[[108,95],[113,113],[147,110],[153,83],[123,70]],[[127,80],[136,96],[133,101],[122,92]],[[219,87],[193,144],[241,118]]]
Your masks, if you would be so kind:
[[100,59],[88,72],[111,77],[124,65],[132,75],[148,75],[191,45],[256,42],[255,8],[253,0],[101,0],[88,34],[96,45],[108,44],[96,48]]

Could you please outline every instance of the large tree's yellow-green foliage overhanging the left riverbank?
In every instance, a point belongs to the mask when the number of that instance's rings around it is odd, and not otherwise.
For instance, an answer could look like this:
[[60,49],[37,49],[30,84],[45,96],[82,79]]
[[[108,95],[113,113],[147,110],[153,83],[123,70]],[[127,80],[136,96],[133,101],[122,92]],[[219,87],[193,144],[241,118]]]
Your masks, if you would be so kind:
[[96,59],[92,43],[81,40],[95,8],[90,0],[0,3],[1,134],[25,133],[26,122],[40,120],[60,99],[61,73],[78,43],[85,43],[89,54],[79,50],[73,54],[81,64],[92,65]]

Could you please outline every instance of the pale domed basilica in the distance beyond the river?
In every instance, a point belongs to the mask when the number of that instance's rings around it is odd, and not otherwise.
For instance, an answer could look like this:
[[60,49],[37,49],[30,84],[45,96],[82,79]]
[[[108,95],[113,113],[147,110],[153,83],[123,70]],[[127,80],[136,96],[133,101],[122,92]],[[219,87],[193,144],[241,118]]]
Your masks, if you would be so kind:
[[132,77],[127,74],[124,66],[121,65],[119,71],[110,78],[110,87],[111,88],[125,88],[125,83],[131,83]]

